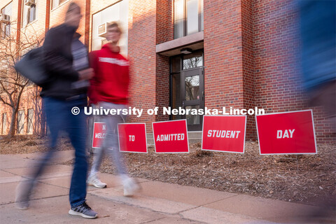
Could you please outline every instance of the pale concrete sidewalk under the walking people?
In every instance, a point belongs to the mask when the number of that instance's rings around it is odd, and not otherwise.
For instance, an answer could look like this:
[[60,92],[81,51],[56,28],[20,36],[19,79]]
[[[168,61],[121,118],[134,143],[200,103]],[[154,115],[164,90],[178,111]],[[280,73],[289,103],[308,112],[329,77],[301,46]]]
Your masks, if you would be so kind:
[[15,188],[34,166],[38,153],[0,155],[0,223],[304,223],[316,207],[267,200],[204,188],[137,179],[142,190],[123,197],[116,176],[101,174],[108,188],[88,188],[87,204],[99,218],[70,216],[69,186],[72,167],[57,165],[73,158],[60,151],[54,165],[41,177],[27,210],[15,209]]

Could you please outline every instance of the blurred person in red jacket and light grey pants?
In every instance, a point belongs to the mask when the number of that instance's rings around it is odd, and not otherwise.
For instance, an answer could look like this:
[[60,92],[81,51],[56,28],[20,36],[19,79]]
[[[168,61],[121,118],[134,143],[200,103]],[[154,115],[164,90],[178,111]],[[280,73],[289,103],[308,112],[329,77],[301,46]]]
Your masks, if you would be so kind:
[[[90,102],[98,108],[127,109],[130,84],[129,62],[119,53],[120,48],[117,44],[120,35],[118,23],[109,24],[106,30],[106,39],[109,43],[103,45],[101,50],[90,53],[90,64],[95,75],[90,80],[89,97]],[[106,123],[106,138],[102,147],[94,153],[87,183],[96,188],[106,187],[106,183],[102,183],[97,176],[104,153],[106,153],[113,158],[118,169],[124,186],[124,195],[132,196],[139,186],[128,176],[127,169],[121,161],[118,144],[118,123],[124,123],[126,116],[123,114],[100,116],[99,120]]]

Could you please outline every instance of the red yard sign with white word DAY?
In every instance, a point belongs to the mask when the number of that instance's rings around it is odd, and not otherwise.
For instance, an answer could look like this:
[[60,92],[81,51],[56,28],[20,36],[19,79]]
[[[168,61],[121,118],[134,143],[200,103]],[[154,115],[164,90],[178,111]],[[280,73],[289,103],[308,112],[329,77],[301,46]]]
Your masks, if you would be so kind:
[[255,121],[260,155],[317,153],[311,110],[258,115]]

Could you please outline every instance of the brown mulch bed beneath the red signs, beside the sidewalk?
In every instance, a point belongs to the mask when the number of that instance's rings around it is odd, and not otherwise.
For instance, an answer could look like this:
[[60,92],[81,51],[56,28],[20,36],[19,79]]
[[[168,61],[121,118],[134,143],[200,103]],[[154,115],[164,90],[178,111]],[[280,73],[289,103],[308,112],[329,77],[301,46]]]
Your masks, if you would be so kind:
[[[244,154],[213,153],[190,146],[190,154],[126,153],[131,176],[260,196],[302,204],[335,204],[334,145],[318,146],[318,155],[259,155],[258,143],[246,142]],[[285,158],[285,159],[283,159]],[[109,160],[102,172],[116,174]]]

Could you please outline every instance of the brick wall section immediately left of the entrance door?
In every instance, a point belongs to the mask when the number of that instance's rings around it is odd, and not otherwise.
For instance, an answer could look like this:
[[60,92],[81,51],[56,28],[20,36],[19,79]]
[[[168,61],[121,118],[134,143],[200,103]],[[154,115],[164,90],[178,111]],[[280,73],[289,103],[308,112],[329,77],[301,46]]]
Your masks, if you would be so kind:
[[132,122],[146,123],[151,132],[155,116],[147,115],[156,103],[156,1],[130,1],[128,56],[130,58],[130,104],[144,109],[141,118],[132,117]]

